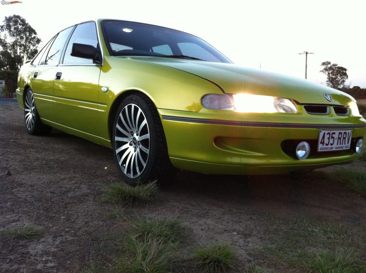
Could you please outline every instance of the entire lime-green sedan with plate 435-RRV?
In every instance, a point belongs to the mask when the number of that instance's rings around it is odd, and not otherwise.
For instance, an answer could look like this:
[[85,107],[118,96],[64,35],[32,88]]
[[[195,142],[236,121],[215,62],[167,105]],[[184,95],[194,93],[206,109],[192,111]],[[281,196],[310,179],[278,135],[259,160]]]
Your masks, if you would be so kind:
[[346,164],[366,120],[343,92],[234,65],[202,39],[100,19],[57,33],[20,69],[30,134],[52,128],[113,149],[123,179],[283,174]]

